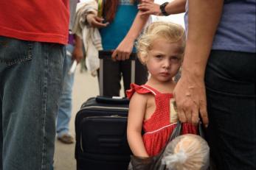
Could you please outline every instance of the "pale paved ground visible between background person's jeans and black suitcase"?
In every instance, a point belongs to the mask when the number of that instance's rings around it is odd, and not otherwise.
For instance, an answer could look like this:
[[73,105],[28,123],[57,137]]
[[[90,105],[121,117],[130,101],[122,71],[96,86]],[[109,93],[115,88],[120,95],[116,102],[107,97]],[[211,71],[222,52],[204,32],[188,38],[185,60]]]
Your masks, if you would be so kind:
[[[121,89],[121,91],[123,91]],[[70,121],[70,132],[75,137],[75,114],[80,109],[86,99],[89,97],[97,96],[98,84],[97,77],[91,77],[88,72],[80,73],[80,65],[77,66],[75,71],[75,82],[73,87],[73,108],[72,118]],[[123,94],[121,94],[123,96]],[[55,143],[55,170],[75,170],[75,144],[63,144],[56,140]]]

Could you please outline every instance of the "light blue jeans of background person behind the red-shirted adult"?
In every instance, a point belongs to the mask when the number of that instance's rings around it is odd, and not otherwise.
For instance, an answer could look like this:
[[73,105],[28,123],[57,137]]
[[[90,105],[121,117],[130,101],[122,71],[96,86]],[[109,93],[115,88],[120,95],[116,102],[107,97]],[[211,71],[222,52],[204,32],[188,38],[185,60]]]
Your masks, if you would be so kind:
[[60,137],[63,134],[69,133],[69,121],[72,113],[72,88],[74,84],[74,74],[69,74],[69,69],[72,65],[72,52],[74,46],[66,46],[66,57],[63,64],[63,90],[60,96],[60,107],[57,118],[57,135]]

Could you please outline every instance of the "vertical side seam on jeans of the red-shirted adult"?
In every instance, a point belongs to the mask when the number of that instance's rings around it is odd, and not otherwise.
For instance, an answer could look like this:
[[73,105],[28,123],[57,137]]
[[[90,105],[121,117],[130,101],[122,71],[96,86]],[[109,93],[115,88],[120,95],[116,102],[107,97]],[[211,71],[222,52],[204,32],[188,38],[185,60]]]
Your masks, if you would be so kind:
[[47,105],[47,85],[48,85],[48,71],[49,71],[49,53],[46,53],[45,65],[44,65],[44,90],[43,90],[43,118],[42,118],[42,127],[43,127],[43,146],[42,146],[42,165],[41,169],[45,169],[46,165],[46,105]]

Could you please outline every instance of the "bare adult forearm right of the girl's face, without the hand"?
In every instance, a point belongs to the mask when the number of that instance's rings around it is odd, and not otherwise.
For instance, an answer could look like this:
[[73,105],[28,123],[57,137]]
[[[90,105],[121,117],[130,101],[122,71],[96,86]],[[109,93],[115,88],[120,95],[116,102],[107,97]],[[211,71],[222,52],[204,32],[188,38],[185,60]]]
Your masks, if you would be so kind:
[[204,71],[212,47],[212,40],[221,18],[224,0],[189,1],[187,46],[183,73],[188,71],[204,78]]

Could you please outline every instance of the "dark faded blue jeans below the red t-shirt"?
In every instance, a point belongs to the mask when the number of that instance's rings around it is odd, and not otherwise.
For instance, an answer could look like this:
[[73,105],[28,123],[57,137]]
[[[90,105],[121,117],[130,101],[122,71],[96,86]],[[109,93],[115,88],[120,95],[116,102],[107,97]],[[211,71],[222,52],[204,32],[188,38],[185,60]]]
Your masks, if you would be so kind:
[[0,36],[0,169],[52,165],[63,47]]

